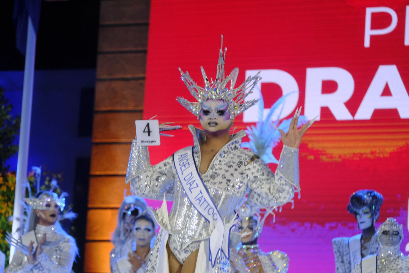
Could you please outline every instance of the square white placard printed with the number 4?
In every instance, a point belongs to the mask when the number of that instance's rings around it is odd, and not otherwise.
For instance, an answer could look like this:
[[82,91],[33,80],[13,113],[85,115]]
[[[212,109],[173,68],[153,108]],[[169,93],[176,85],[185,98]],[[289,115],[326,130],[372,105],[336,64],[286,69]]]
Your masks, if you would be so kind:
[[135,120],[136,139],[140,146],[160,145],[158,120]]

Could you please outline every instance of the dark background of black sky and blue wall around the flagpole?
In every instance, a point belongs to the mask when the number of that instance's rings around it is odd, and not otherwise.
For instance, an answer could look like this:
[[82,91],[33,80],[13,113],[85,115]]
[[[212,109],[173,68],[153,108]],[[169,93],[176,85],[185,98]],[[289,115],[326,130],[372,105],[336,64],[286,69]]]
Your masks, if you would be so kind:
[[[28,170],[43,165],[62,172],[67,203],[75,204],[78,219],[65,223],[80,249],[73,270],[83,268],[86,206],[91,155],[92,109],[99,1],[42,1],[37,33],[33,107]],[[0,86],[13,104],[13,115],[21,114],[25,57],[16,48],[13,25],[14,1],[0,4]],[[16,136],[18,143],[18,136]],[[17,154],[9,160],[16,170]]]

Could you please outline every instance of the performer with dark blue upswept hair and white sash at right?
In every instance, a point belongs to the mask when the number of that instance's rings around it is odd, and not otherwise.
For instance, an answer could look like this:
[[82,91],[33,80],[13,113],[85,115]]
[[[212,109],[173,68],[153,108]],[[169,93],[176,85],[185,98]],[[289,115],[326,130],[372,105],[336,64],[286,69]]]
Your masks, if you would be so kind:
[[362,258],[378,253],[375,221],[382,202],[382,194],[374,190],[359,190],[351,195],[348,212],[355,215],[362,234],[333,239],[336,273],[350,273]]

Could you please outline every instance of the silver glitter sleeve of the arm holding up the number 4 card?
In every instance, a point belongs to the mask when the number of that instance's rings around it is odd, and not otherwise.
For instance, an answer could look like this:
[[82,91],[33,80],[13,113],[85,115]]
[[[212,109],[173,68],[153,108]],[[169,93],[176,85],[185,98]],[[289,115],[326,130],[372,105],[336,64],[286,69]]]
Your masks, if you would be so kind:
[[129,156],[126,183],[130,182],[131,190],[137,195],[148,199],[173,200],[173,157],[169,156],[164,161],[151,165],[147,146],[137,145],[132,141]]

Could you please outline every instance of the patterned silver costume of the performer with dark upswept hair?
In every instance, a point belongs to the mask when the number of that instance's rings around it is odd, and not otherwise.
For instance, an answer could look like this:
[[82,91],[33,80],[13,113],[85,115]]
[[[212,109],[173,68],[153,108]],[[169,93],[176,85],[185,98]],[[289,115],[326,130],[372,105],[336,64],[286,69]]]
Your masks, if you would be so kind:
[[[334,238],[333,248],[335,255],[335,272],[336,273],[350,273],[351,268],[351,257],[349,254],[349,237],[339,237]],[[378,253],[379,242],[377,239],[377,234],[375,233],[371,241],[364,245],[365,248],[361,248],[362,258]]]

